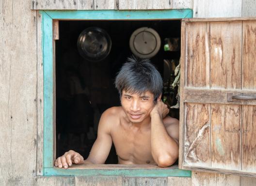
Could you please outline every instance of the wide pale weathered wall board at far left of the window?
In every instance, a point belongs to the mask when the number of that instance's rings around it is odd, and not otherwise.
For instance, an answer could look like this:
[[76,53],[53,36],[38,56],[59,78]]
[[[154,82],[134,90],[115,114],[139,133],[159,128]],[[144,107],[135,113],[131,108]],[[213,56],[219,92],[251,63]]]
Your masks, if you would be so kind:
[[29,4],[30,0],[0,3],[0,185],[3,186],[33,185],[36,174],[36,12],[30,10]]

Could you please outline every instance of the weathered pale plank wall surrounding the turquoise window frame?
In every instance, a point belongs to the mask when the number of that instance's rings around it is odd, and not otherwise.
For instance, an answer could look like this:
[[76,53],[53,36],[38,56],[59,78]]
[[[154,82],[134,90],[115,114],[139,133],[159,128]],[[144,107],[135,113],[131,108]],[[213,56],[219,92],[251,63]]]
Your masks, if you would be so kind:
[[195,171],[192,171],[191,178],[36,176],[42,174],[40,151],[43,145],[41,135],[43,74],[41,20],[40,15],[34,10],[193,8],[194,17],[256,16],[255,0],[208,2],[206,0],[129,0],[128,2],[127,0],[0,0],[0,185],[256,185],[256,178]]

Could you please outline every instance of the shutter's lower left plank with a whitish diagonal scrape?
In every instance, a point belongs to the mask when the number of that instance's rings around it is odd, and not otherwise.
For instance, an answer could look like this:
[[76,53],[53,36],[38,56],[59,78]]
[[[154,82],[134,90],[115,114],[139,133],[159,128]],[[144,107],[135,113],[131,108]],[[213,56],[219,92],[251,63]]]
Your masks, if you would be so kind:
[[209,104],[186,104],[184,161],[210,167]]

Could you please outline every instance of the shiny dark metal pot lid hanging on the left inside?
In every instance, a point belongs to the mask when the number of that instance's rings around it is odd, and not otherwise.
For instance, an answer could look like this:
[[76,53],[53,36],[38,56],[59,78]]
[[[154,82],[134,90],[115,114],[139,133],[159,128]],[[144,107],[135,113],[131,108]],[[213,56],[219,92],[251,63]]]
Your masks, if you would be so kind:
[[112,41],[107,31],[99,27],[89,27],[80,33],[77,47],[84,59],[97,62],[109,55]]

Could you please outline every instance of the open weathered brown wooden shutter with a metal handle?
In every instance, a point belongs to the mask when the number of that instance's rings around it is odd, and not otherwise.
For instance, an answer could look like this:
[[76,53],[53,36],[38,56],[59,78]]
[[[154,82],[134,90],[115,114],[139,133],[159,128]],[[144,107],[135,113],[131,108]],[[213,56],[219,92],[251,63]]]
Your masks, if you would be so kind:
[[179,168],[256,176],[256,18],[183,19]]

